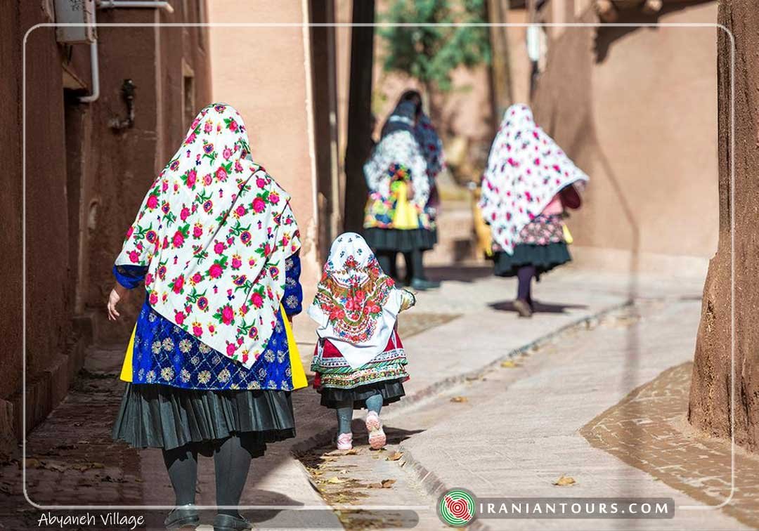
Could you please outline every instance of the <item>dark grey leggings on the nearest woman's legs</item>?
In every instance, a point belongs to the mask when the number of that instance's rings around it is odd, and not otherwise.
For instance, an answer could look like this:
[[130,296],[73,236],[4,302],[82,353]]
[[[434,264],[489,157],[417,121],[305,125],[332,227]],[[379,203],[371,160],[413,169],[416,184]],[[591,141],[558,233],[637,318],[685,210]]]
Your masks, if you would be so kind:
[[[216,505],[237,507],[245,487],[250,460],[254,451],[245,448],[237,435],[214,441],[214,443],[191,443],[163,451],[163,460],[172,480],[176,504],[195,503],[197,485],[197,455],[213,451],[213,465],[216,473]],[[236,508],[219,509],[219,514],[239,517]]]

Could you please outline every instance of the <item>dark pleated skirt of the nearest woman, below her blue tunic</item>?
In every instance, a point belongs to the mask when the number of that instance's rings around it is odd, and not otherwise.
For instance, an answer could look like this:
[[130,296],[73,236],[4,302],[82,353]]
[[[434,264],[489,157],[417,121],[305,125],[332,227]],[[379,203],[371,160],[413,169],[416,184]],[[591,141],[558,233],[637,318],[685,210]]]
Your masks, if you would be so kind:
[[247,445],[295,436],[290,391],[206,391],[127,384],[113,438],[134,448],[178,448],[238,435]]

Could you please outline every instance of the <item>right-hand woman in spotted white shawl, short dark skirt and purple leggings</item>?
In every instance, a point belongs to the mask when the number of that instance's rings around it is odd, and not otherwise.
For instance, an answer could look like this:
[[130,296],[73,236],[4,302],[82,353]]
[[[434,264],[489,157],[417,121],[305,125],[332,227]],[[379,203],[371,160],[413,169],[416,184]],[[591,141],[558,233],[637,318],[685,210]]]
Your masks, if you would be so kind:
[[562,216],[578,209],[588,177],[535,124],[527,105],[503,115],[483,175],[480,209],[493,237],[495,272],[518,278],[514,306],[531,317],[532,279],[569,262]]

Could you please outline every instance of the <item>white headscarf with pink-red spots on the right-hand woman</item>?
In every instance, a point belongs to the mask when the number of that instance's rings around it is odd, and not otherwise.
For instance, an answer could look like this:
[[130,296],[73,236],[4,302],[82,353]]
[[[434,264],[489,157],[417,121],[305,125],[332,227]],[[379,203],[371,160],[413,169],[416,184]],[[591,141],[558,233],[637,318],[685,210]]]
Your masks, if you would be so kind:
[[490,147],[482,178],[480,209],[493,242],[513,253],[519,232],[556,193],[588,177],[546,132],[535,124],[527,105],[506,109]]

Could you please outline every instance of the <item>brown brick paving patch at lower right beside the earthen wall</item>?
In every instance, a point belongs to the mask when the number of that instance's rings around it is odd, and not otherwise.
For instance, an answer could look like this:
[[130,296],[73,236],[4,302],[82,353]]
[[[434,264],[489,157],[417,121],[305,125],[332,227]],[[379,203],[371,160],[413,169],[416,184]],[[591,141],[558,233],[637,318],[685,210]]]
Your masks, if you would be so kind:
[[693,363],[664,371],[635,389],[581,430],[594,445],[644,470],[695,500],[717,506],[759,528],[759,458],[735,451],[731,494],[731,448],[688,425],[688,392]]

